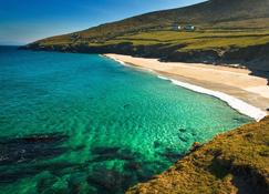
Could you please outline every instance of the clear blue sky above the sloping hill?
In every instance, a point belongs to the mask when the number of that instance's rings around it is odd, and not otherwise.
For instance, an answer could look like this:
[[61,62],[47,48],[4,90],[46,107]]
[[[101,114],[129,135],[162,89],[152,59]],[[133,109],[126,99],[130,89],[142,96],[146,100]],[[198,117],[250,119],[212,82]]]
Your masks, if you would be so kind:
[[204,0],[0,0],[0,44],[25,44]]

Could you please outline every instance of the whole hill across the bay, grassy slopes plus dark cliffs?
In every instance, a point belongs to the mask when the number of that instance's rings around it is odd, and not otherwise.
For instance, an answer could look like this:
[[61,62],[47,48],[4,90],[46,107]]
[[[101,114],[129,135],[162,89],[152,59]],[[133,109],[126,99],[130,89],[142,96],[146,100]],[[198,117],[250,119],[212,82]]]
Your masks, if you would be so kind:
[[[196,30],[174,30],[186,24]],[[269,0],[209,0],[43,39],[24,49],[240,63],[260,73],[269,71]]]

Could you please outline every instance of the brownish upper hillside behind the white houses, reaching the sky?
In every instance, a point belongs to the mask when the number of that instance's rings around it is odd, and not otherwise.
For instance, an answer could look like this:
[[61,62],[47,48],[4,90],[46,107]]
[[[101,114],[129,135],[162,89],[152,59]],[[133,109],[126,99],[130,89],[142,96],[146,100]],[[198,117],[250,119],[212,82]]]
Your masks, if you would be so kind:
[[[267,19],[263,20],[265,18]],[[201,29],[265,29],[269,28],[268,18],[269,0],[209,0],[186,8],[146,13],[38,42],[102,44],[107,40],[142,31],[167,30],[174,23],[194,23]]]

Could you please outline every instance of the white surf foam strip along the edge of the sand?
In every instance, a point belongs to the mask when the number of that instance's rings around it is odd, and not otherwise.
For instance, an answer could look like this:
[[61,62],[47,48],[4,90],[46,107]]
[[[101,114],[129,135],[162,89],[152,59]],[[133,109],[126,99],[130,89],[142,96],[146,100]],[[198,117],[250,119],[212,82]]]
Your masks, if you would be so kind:
[[248,115],[248,116],[255,119],[256,121],[260,121],[261,119],[263,119],[267,115],[267,113],[265,111],[262,111],[256,106],[252,106],[231,95],[228,95],[226,93],[204,89],[201,86],[193,85],[189,83],[180,82],[180,81],[168,79],[168,78],[161,76],[161,75],[158,75],[158,78],[163,79],[163,80],[169,80],[169,81],[172,81],[172,83],[183,86],[185,89],[193,90],[195,92],[208,94],[208,95],[215,96],[217,99],[220,99],[220,100],[227,102],[232,109],[237,110],[241,114],[245,114],[245,115]]

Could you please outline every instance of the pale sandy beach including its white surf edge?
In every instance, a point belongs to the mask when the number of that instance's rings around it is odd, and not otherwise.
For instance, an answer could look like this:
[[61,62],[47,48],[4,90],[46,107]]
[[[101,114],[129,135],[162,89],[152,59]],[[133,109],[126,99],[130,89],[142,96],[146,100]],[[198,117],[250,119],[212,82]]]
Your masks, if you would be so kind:
[[257,121],[268,114],[268,81],[250,75],[251,72],[247,69],[203,63],[161,62],[157,59],[122,54],[104,55],[123,64],[154,71],[161,78],[180,86],[214,95]]

